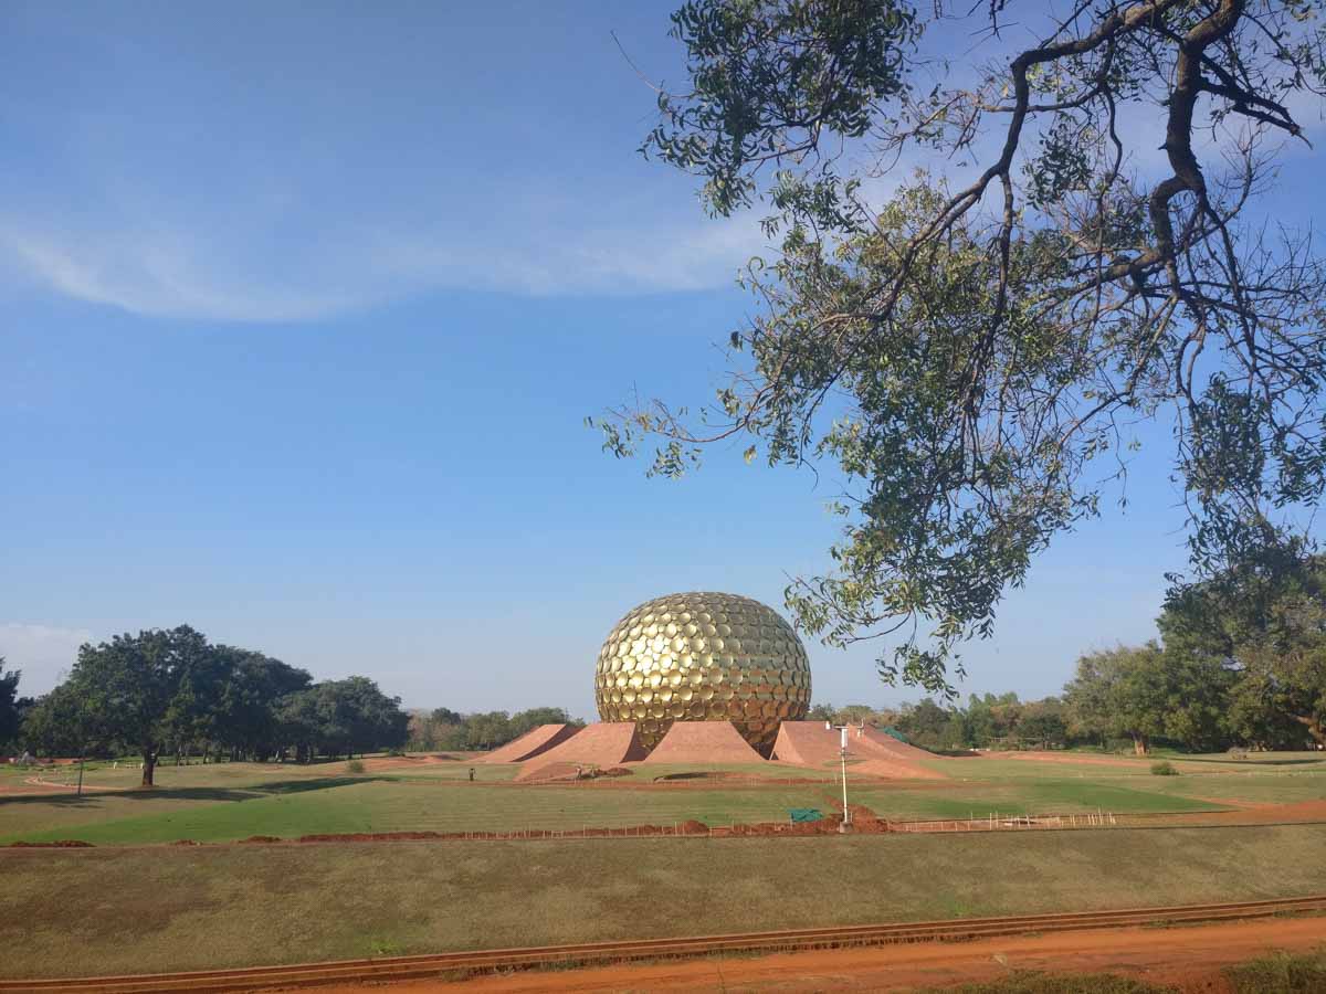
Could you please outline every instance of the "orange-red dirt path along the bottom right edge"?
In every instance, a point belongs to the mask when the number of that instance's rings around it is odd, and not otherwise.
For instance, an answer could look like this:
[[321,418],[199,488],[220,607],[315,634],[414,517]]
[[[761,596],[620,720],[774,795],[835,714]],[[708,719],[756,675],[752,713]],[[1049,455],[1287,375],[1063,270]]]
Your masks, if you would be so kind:
[[[1274,949],[1307,952],[1326,942],[1326,917],[1220,922],[1172,929],[1102,929],[960,944],[894,945],[699,960],[643,966],[479,977],[461,983],[411,981],[391,994],[464,990],[530,994],[544,990],[907,990],[996,979],[1010,970],[1118,973],[1185,991],[1219,991],[1220,970]],[[321,987],[349,994],[363,986]]]

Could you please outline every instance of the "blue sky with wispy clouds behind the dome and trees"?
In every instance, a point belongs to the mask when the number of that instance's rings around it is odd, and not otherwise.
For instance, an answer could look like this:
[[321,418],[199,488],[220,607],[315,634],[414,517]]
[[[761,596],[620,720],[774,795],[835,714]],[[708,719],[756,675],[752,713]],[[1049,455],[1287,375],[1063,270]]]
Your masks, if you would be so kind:
[[[192,624],[407,706],[594,717],[617,619],[679,590],[781,610],[827,569],[830,473],[679,482],[586,415],[709,396],[753,216],[646,162],[671,3],[0,7],[0,656]],[[1313,122],[1309,122],[1313,123]],[[1272,207],[1319,219],[1311,160]],[[960,690],[1057,692],[1155,634],[1172,443],[1062,537]],[[808,639],[814,696],[916,700]]]

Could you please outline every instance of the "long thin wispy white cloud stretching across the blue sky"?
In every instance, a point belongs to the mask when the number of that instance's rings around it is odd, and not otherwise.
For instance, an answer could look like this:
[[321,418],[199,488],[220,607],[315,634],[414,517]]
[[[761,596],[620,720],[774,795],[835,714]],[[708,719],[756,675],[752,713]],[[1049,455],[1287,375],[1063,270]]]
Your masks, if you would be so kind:
[[[727,288],[760,250],[754,219],[690,228],[511,232],[386,232],[341,236],[309,258],[281,245],[203,241],[180,229],[58,232],[0,221],[0,262],[76,300],[133,314],[236,322],[335,317],[430,290],[532,296],[642,294]],[[274,260],[274,261],[273,261]]]

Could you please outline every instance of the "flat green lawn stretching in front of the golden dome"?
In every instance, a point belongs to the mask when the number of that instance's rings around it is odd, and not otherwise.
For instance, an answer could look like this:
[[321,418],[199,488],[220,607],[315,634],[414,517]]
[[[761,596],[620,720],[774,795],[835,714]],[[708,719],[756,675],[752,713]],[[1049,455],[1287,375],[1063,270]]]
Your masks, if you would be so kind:
[[[1310,757],[1310,754],[1309,754]],[[1018,759],[935,759],[947,779],[880,783],[854,778],[851,799],[894,819],[1000,814],[1156,814],[1238,804],[1326,799],[1326,762],[1185,762],[1179,777],[1147,765],[1075,766]],[[575,831],[583,827],[700,820],[781,822],[796,807],[831,810],[838,787],[817,770],[781,765],[639,766],[610,783],[512,783],[514,766],[440,762],[353,774],[346,763],[163,766],[155,790],[130,790],[138,771],[91,767],[90,791],[0,793],[0,843],[82,839],[98,846],[252,835],[390,831]],[[23,775],[0,767],[0,787]],[[728,773],[735,779],[655,783],[676,773]],[[30,775],[30,774],[27,774]],[[72,779],[72,770],[48,771]],[[761,779],[762,778],[762,779]],[[804,781],[804,782],[802,782]],[[103,790],[113,787],[115,790]]]

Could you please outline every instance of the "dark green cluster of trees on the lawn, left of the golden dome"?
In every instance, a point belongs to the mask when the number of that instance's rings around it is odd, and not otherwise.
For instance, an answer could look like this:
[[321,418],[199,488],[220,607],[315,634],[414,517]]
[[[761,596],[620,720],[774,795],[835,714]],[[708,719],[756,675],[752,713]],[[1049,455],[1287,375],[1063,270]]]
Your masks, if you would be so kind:
[[[0,660],[3,663],[3,660]],[[408,714],[362,676],[314,683],[261,652],[213,645],[180,626],[78,649],[69,679],[17,698],[0,667],[0,745],[45,755],[309,762],[404,744]]]

